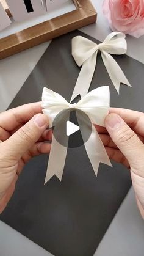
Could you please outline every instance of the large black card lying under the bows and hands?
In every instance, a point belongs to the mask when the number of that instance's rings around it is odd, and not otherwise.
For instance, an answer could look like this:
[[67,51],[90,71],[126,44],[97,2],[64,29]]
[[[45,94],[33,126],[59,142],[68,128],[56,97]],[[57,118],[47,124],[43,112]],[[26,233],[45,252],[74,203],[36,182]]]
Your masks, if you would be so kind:
[[[80,68],[71,56],[71,39],[79,31],[52,40],[10,108],[41,100],[43,86],[70,101]],[[143,111],[144,65],[126,55],[113,56],[132,85],[120,95],[110,81],[100,54],[90,90],[110,86],[110,106]],[[32,159],[18,180],[1,220],[57,256],[92,256],[130,186],[129,170],[100,164],[95,177],[85,148],[69,148],[62,182],[44,186],[48,155]]]

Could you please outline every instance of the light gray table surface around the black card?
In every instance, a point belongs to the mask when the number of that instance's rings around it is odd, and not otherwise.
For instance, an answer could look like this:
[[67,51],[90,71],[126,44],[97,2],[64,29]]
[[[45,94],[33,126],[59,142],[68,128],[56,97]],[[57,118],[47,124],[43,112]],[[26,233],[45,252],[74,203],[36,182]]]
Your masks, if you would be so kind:
[[[96,24],[82,28],[81,31],[102,41],[109,34],[110,29],[101,12],[102,1],[92,0],[92,2],[98,12],[98,21]],[[127,36],[127,42],[127,54],[144,64],[144,36],[139,39]],[[9,106],[48,45],[49,42],[1,60],[0,111],[4,111]],[[143,256],[143,237],[144,222],[137,210],[134,191],[131,188],[99,244],[95,255]],[[0,255],[45,256],[51,254],[0,221]]]

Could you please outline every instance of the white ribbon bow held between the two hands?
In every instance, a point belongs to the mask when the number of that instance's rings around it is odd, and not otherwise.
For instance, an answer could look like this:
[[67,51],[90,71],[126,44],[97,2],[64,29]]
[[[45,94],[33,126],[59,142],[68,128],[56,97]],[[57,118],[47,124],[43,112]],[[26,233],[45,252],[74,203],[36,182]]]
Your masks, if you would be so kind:
[[[43,113],[49,117],[49,126],[55,117],[65,109],[78,109],[83,111],[93,124],[104,126],[104,119],[109,113],[109,87],[103,86],[92,90],[85,95],[78,103],[70,104],[56,92],[43,88],[42,104],[44,108]],[[81,130],[81,126],[80,126]],[[82,131],[81,131],[82,134]],[[83,137],[84,134],[82,134]],[[87,142],[85,142],[85,149],[88,158],[92,164],[95,175],[98,173],[99,163],[104,163],[112,166],[101,141],[98,132],[94,125],[92,125],[92,133]],[[49,154],[48,169],[46,172],[45,183],[53,176],[56,175],[59,180],[62,180],[63,168],[67,156],[67,147],[60,145],[52,136],[51,152]]]

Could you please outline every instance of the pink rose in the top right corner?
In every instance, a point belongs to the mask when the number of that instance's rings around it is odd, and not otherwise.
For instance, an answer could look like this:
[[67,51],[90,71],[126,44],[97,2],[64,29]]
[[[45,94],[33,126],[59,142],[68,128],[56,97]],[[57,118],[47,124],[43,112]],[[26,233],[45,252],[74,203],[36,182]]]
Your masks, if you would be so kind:
[[103,13],[113,31],[137,38],[144,34],[144,0],[104,0]]

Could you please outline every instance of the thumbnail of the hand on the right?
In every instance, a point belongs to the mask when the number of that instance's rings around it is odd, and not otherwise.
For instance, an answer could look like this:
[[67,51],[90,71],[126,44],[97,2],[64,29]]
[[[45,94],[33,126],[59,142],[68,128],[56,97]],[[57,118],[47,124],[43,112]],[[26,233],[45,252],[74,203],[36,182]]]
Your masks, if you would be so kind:
[[121,124],[121,118],[117,114],[109,114],[106,117],[106,126],[118,128]]

